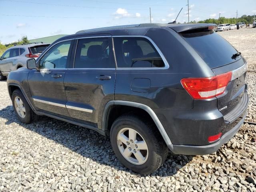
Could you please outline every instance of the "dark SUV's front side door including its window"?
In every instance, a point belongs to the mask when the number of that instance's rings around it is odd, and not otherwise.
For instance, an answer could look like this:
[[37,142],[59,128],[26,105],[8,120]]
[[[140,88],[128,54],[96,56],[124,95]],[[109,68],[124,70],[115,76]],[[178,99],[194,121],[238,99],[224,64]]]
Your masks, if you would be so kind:
[[72,44],[72,40],[67,40],[52,46],[37,60],[38,70],[29,73],[30,92],[38,110],[69,117],[65,106],[67,98],[63,81],[69,65]]

